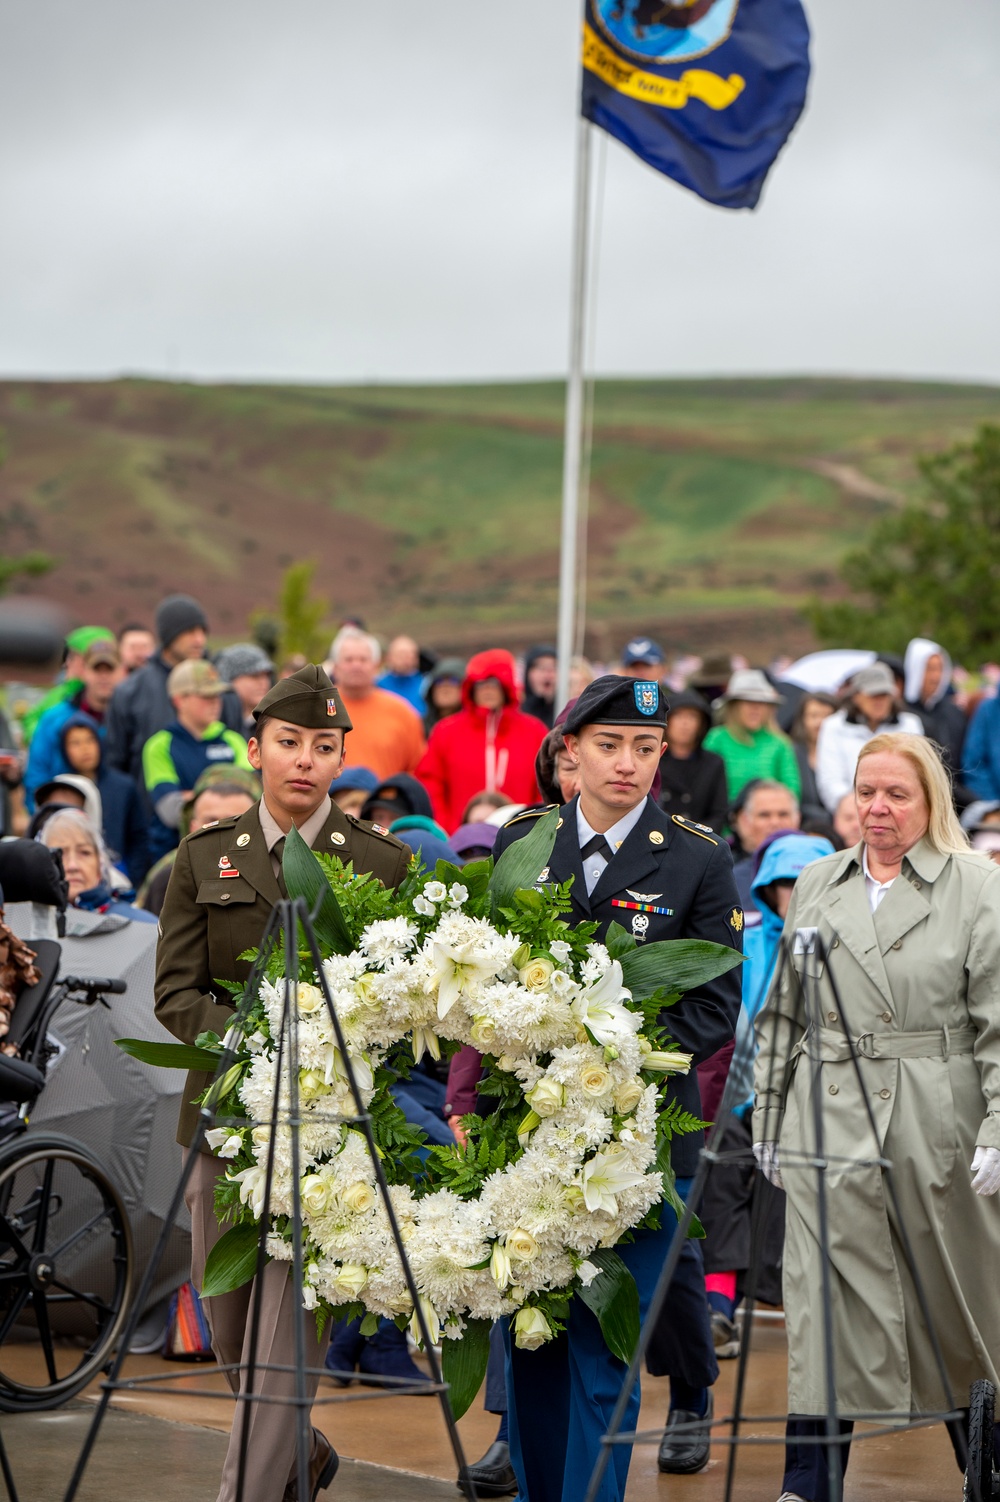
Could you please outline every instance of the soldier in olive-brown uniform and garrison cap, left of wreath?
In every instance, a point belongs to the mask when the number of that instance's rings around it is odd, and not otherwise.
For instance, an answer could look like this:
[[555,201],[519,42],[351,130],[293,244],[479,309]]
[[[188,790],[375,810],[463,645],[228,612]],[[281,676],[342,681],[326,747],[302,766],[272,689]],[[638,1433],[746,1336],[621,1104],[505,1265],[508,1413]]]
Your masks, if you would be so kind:
[[[407,874],[410,852],[392,835],[344,814],[329,795],[344,765],[344,739],[351,721],[321,667],[308,664],[275,683],[254,710],[251,765],[260,772],[261,799],[246,813],[219,819],[182,840],[161,913],[156,951],[156,1015],[182,1042],[200,1032],[224,1035],[233,1015],[233,997],[224,981],[245,982],[251,966],[240,960],[257,949],[273,904],[284,895],[282,843],[294,825],[312,850],[353,862],[357,874],[371,873],[384,886],[398,888]],[[183,1092],[177,1140],[198,1148],[186,1190],[191,1211],[191,1277],[201,1287],[206,1257],[224,1226],[215,1214],[219,1163],[198,1131],[194,1104],[209,1084],[191,1074]],[[197,1134],[197,1136],[195,1136]],[[207,1299],[212,1346],[228,1370],[236,1392],[246,1385],[243,1343],[254,1283],[236,1293]],[[315,1502],[338,1469],[330,1442],[312,1431],[308,1490],[296,1481],[296,1425],[288,1404],[296,1397],[294,1299],[288,1265],[269,1262],[260,1289],[258,1350],[267,1352],[267,1370],[257,1371],[254,1407],[243,1478],[243,1502],[275,1502],[278,1496]],[[320,1337],[306,1322],[306,1368],[317,1371],[329,1331]],[[284,1368],[284,1370],[282,1370]],[[315,1394],[317,1377],[306,1385]],[[243,1404],[236,1404],[236,1413]],[[234,1422],[222,1470],[219,1502],[234,1502],[240,1472],[240,1422]],[[284,1487],[284,1491],[282,1491]]]

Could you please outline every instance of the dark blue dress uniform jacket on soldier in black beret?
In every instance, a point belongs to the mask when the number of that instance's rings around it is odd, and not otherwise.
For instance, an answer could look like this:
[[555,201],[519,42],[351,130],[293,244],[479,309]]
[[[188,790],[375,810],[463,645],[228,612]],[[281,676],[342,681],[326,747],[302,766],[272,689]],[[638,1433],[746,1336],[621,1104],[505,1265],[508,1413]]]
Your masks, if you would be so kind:
[[[577,802],[574,798],[563,808],[548,865],[550,882],[566,882],[574,877],[571,891],[574,907],[572,913],[568,913],[568,922],[599,924],[598,939],[604,939],[608,927],[617,922],[626,933],[635,933],[643,943],[659,939],[710,939],[713,943],[742,951],[743,910],[733,880],[733,856],[724,840],[679,814],[665,814],[652,798],[647,798],[638,823],[587,897],[577,837]],[[505,825],[497,837],[494,856],[498,859],[508,846],[529,834],[542,811],[520,814]],[[616,906],[616,903],[634,903],[632,892],[646,898],[650,907],[667,912],[640,915],[635,909]],[[737,966],[716,981],[698,987],[697,991],[689,991],[662,1014],[671,1038],[685,1053],[694,1054],[695,1065],[710,1059],[733,1038],[740,1014],[740,996],[742,981]],[[670,1098],[679,1099],[694,1116],[701,1114],[698,1077],[694,1068],[689,1074],[674,1077]],[[674,1142],[671,1161],[679,1178],[691,1178],[695,1173],[701,1143],[701,1133]]]

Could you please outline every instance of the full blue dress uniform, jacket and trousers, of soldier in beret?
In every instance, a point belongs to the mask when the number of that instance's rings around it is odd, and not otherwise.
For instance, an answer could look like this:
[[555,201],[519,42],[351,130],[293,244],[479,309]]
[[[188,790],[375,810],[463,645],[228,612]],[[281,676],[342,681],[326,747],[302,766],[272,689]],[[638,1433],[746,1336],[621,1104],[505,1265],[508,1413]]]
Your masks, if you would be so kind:
[[[541,810],[533,811],[538,817]],[[524,837],[535,817],[521,814],[505,825],[494,855]],[[611,922],[634,933],[638,942],[659,939],[710,939],[742,948],[742,912],[733,882],[728,846],[710,831],[665,814],[647,798],[643,814],[601,874],[590,897],[583,874],[577,831],[577,799],[563,808],[562,823],[550,859],[548,879],[574,877],[569,922],[598,922],[604,937]],[[632,897],[641,894],[641,898]],[[643,901],[667,912],[638,912],[614,906]],[[647,918],[649,924],[638,921]],[[635,919],[635,921],[634,921]],[[695,1062],[710,1057],[730,1041],[740,1008],[739,967],[688,993],[664,1014],[671,1036]],[[695,1114],[700,1113],[698,1080],[694,1072],[677,1075],[671,1093]],[[700,1134],[679,1137],[673,1163],[677,1187],[683,1194],[695,1172]],[[677,1221],[668,1206],[662,1209],[658,1232],[640,1230],[634,1241],[617,1251],[631,1268],[640,1293],[640,1314],[646,1319],[649,1301]],[[712,1349],[704,1271],[697,1242],[688,1241],[670,1286],[665,1305],[673,1349],[668,1359],[650,1370],[667,1370],[689,1388],[710,1386],[718,1376]],[[661,1322],[662,1323],[662,1322]],[[604,1343],[601,1326],[580,1299],[569,1308],[566,1334],[539,1350],[518,1350],[505,1329],[508,1352],[508,1415],[511,1460],[518,1476],[518,1502],[581,1502],[587,1491],[601,1437],[625,1379],[625,1364]],[[622,1424],[625,1433],[637,1428],[638,1385]],[[604,1473],[599,1502],[623,1502],[631,1449],[614,1445]]]

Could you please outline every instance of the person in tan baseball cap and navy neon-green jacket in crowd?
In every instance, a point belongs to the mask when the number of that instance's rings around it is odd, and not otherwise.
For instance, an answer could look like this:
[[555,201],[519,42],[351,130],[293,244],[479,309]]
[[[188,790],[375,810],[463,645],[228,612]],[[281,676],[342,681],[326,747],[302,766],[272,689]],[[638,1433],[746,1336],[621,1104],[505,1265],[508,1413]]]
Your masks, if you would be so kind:
[[204,658],[186,659],[170,670],[167,692],[176,718],[143,746],[143,783],[153,807],[152,861],[177,844],[180,811],[206,768],[251,765],[243,736],[227,730],[219,719],[228,686]]

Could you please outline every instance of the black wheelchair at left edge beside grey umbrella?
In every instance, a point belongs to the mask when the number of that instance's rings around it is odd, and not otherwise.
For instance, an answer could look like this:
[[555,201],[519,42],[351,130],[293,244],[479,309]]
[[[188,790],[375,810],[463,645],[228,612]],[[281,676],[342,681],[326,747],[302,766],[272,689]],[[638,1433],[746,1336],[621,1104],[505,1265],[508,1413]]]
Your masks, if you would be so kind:
[[57,981],[59,943],[35,939],[32,948],[41,979],[20,993],[3,1039],[18,1054],[0,1054],[2,1413],[59,1407],[107,1368],[135,1283],[129,1217],[104,1166],[72,1137],[30,1130],[59,1053],[48,1036],[56,1011],[102,1005],[126,987],[99,976]]

